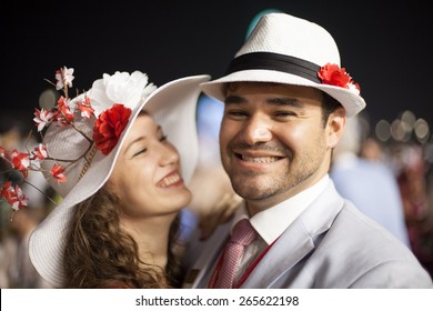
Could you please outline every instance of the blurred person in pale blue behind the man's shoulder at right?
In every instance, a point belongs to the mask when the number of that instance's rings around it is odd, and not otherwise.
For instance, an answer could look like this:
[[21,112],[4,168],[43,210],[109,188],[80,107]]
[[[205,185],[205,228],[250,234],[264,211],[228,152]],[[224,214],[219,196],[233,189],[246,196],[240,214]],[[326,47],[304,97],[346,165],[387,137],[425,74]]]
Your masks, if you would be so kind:
[[410,247],[396,178],[380,160],[381,152],[376,148],[371,156],[376,160],[360,157],[363,137],[360,117],[348,118],[343,137],[333,152],[330,177],[343,198]]

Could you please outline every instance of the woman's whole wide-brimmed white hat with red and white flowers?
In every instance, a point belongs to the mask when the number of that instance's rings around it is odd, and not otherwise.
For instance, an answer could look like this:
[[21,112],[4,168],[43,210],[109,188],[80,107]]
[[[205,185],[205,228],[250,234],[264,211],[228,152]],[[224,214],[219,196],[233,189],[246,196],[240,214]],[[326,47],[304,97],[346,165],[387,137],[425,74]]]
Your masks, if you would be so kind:
[[[209,76],[185,77],[160,88],[148,76],[104,73],[89,91],[70,98],[73,69],[56,72],[57,90],[62,91],[51,110],[36,109],[34,122],[42,142],[33,150],[8,151],[0,157],[10,170],[22,174],[30,170],[44,174],[48,183],[62,197],[61,202],[32,232],[30,259],[38,272],[52,285],[62,284],[62,257],[73,207],[95,193],[109,179],[124,138],[140,111],[149,112],[164,130],[181,156],[182,177],[188,182],[198,161],[195,107],[199,84]],[[28,199],[21,184],[4,181],[1,199],[13,211],[26,208]]]

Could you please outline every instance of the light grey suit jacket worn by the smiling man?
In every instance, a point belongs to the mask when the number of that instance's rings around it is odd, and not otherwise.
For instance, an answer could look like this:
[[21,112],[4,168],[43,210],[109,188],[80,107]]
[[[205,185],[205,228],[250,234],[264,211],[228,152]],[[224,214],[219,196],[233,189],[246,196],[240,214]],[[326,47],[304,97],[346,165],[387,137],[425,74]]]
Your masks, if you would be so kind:
[[[230,223],[224,224],[208,241],[192,243],[193,273],[184,288],[207,288],[229,229]],[[421,289],[433,283],[403,243],[344,200],[331,182],[276,240],[242,288]]]

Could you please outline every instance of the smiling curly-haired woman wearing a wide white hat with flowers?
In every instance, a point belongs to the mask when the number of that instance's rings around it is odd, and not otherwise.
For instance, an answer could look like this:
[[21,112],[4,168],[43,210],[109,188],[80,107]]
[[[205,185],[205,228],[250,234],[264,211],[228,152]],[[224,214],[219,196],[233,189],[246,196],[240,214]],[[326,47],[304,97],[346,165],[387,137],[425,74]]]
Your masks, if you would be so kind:
[[[72,73],[57,72],[64,97],[34,118],[46,132],[27,169],[41,160],[38,170],[63,199],[33,231],[31,261],[56,288],[175,287],[172,245],[191,200],[199,83],[210,77],[155,89],[139,71],[115,72],[70,100]],[[2,190],[11,203],[19,192]]]

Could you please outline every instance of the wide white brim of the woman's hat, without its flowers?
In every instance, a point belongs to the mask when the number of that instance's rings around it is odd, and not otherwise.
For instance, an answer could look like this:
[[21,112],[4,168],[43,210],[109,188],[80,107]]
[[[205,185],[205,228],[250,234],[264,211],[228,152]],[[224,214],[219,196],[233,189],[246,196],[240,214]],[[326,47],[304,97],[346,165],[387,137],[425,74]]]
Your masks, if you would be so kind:
[[[30,237],[30,259],[43,279],[53,287],[62,285],[63,251],[74,207],[94,194],[107,182],[124,138],[142,110],[148,111],[154,118],[155,122],[162,127],[168,136],[169,141],[178,149],[181,157],[182,178],[187,183],[189,182],[199,158],[195,121],[195,108],[200,94],[199,84],[208,80],[210,80],[210,76],[205,74],[185,77],[158,88],[132,109],[128,126],[123,130],[115,148],[108,156],[103,156],[99,150],[95,151],[84,174],[72,187],[69,187],[70,189],[68,189],[67,193],[63,193],[63,200],[48,214]],[[56,139],[56,142],[59,144],[59,141],[67,143],[68,140],[71,140],[68,136],[72,136],[72,132],[68,133],[68,131],[60,130],[57,134],[59,137]],[[77,132],[73,132],[73,136],[77,136]],[[67,147],[60,146],[59,148],[66,149]],[[70,151],[73,152],[73,150]],[[68,150],[66,149],[64,152],[68,152]],[[74,170],[80,171],[81,169],[75,168]],[[56,183],[50,183],[56,185]]]

